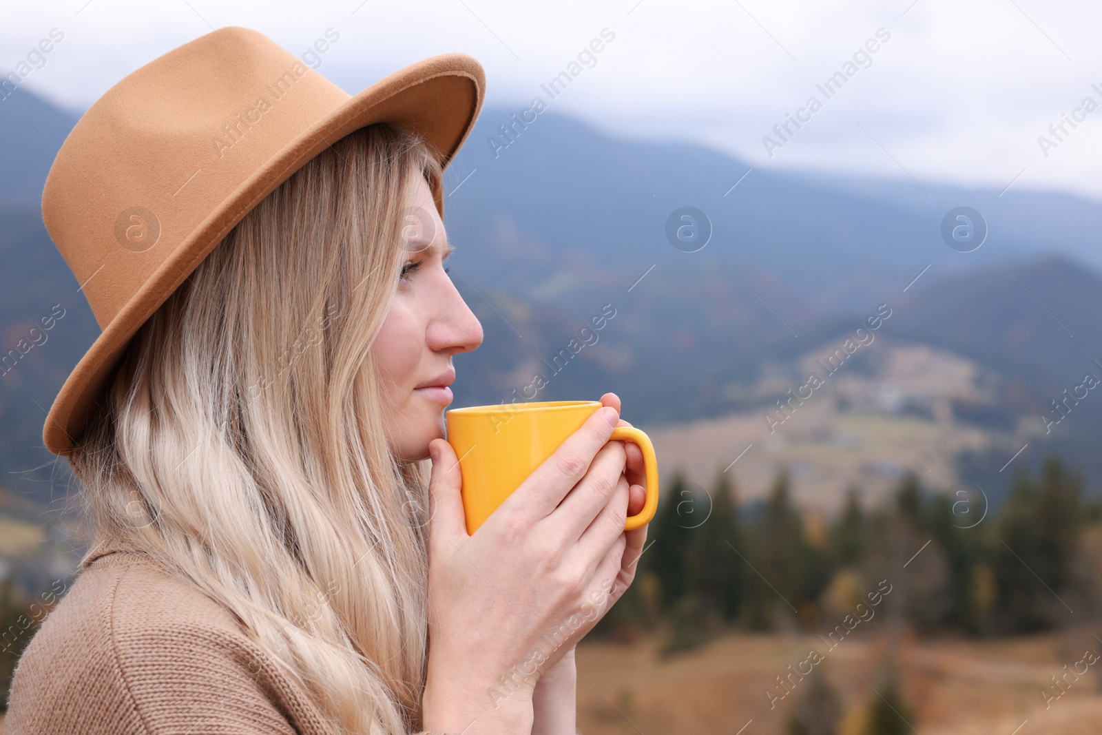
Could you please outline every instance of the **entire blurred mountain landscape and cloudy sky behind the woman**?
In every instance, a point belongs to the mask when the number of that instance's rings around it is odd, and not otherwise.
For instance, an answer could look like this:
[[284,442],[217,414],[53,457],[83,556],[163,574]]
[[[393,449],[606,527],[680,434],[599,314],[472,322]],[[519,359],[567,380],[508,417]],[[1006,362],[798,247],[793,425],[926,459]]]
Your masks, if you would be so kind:
[[246,25],[352,94],[444,52],[486,67],[447,173],[485,329],[453,406],[614,391],[660,460],[637,581],[579,647],[582,732],[1100,732],[1100,22],[1037,0],[7,3],[0,691],[91,531],[42,447],[98,334],[45,175],[120,78]]

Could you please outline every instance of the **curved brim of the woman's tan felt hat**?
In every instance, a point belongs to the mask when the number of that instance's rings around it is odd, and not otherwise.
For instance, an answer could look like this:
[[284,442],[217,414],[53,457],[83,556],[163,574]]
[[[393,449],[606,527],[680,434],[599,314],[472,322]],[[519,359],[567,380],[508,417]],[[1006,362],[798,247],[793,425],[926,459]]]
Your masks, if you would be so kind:
[[[392,122],[412,128],[440,154],[446,167],[463,145],[482,109],[486,77],[467,54],[441,54],[380,79],[320,118],[274,153],[226,197],[122,306],[69,374],[46,417],[43,441],[57,455],[69,454],[131,337],[245,215],[325,148],[360,128]],[[441,217],[444,186],[432,182]]]

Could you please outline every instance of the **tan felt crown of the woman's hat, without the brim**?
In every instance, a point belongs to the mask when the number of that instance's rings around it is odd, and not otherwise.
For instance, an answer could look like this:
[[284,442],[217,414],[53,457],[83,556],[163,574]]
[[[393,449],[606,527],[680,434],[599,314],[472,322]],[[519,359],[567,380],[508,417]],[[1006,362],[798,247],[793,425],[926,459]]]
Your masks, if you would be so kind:
[[42,197],[100,328],[220,203],[349,97],[245,28],[184,44],[105,93],[65,140]]

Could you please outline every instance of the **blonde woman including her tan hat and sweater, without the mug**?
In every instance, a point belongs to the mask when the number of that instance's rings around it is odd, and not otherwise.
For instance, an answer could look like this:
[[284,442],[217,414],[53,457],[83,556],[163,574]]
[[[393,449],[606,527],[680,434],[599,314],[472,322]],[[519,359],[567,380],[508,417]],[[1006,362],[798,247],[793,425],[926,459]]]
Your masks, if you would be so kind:
[[[606,393],[465,531],[443,411],[483,332],[442,176],[482,68],[434,57],[349,98],[293,62],[247,29],[191,42],[51,172],[47,228],[105,329],[44,437],[97,536],[8,735],[575,732],[573,650],[634,577],[642,460]],[[242,114],[264,79],[282,94]]]

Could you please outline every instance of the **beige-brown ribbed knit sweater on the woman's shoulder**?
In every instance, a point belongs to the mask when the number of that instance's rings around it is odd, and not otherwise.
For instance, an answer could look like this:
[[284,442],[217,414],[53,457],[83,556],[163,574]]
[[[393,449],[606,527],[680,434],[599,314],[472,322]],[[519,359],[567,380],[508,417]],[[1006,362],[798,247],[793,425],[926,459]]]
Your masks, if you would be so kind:
[[[95,563],[93,563],[95,562]],[[15,668],[6,735],[332,735],[222,605],[97,544]],[[431,735],[421,733],[419,735]]]

